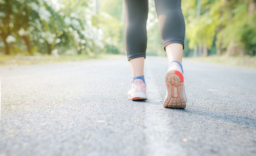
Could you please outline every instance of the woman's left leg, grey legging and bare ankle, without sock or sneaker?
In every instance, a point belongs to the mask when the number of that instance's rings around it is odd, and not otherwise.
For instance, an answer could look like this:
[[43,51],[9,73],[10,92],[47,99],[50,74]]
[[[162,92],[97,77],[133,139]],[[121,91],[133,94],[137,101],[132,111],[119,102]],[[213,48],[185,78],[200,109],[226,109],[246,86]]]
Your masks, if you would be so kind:
[[142,76],[146,57],[148,0],[124,0],[124,4],[127,58],[130,61],[133,76]]

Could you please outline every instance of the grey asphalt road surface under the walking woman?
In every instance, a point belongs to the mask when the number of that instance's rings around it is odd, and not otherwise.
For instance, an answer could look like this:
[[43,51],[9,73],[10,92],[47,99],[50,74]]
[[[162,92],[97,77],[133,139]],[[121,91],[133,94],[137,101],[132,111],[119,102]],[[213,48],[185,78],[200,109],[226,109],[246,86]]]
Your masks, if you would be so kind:
[[256,70],[184,60],[187,107],[164,108],[167,59],[130,101],[125,57],[0,67],[0,155],[255,155]]

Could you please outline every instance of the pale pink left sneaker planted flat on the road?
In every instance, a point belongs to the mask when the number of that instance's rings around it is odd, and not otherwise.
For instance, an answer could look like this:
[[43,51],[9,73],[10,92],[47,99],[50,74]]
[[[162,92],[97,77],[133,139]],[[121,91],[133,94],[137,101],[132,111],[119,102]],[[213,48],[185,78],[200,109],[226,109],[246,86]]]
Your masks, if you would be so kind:
[[127,97],[131,100],[146,99],[146,84],[140,79],[134,80],[131,90],[127,92]]

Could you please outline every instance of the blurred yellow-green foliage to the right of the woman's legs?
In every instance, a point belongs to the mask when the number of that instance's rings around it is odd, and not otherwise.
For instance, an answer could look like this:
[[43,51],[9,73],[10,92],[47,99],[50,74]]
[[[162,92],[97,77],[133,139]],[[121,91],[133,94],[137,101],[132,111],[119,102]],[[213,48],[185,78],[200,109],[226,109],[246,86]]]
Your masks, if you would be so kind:
[[209,51],[227,51],[228,55],[254,54],[256,6],[253,0],[202,0],[199,17],[195,13],[197,2],[183,2],[189,49],[200,46]]

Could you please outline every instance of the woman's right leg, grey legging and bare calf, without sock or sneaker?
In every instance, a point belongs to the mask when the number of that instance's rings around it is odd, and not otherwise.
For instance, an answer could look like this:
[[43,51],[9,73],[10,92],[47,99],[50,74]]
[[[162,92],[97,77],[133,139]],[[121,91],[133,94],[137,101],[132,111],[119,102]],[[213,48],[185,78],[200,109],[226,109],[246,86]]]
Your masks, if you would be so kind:
[[182,62],[184,49],[185,21],[181,0],[155,0],[159,33],[168,61]]

